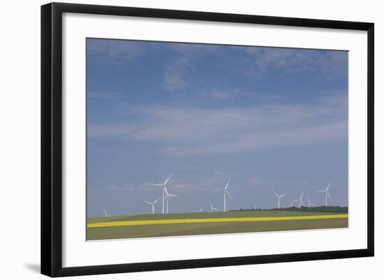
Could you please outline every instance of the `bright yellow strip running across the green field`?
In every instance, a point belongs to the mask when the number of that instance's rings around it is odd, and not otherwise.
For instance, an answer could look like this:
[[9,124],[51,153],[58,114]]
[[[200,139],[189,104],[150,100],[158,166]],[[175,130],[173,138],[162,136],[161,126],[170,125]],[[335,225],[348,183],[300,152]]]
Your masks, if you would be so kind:
[[348,214],[318,215],[318,216],[280,216],[280,217],[244,217],[244,218],[206,218],[206,219],[159,219],[142,221],[105,221],[89,223],[87,228],[107,228],[112,226],[145,226],[167,223],[232,223],[246,221],[293,221],[313,219],[345,219]]

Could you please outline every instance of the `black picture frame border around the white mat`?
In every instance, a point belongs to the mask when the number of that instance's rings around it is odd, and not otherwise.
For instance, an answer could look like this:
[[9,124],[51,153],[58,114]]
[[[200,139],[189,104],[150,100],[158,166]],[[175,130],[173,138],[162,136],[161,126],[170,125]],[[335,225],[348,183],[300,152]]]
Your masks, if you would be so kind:
[[[167,18],[269,24],[289,27],[314,27],[367,31],[367,248],[345,251],[285,253],[267,256],[241,256],[198,260],[172,260],[152,263],[128,263],[63,267],[62,265],[62,15],[83,13],[133,17]],[[207,13],[186,10],[96,6],[73,3],[48,3],[41,6],[41,273],[50,277],[87,274],[111,274],[195,267],[252,265],[302,260],[358,258],[374,256],[374,23],[313,20],[291,17]]]

